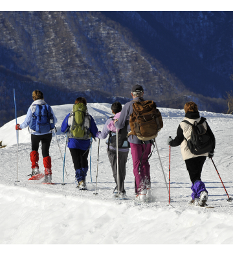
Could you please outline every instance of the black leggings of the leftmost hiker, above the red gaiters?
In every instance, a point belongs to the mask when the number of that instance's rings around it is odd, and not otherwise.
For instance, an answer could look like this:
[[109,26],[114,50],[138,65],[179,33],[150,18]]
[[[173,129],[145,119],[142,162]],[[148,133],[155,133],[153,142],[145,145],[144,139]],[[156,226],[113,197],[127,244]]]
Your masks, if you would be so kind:
[[43,135],[34,135],[31,134],[32,140],[32,151],[38,151],[39,143],[41,141],[42,145],[42,156],[47,157],[49,156],[49,147],[52,141],[52,133],[51,134],[43,134]]

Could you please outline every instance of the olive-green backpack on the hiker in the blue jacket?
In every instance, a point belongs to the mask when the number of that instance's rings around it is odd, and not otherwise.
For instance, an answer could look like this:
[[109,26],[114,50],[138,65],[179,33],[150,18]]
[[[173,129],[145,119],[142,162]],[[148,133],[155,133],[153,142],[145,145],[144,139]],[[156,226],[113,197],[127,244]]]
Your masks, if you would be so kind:
[[68,124],[70,126],[68,137],[72,139],[90,139],[92,134],[89,130],[91,117],[87,106],[83,103],[74,104],[69,115]]

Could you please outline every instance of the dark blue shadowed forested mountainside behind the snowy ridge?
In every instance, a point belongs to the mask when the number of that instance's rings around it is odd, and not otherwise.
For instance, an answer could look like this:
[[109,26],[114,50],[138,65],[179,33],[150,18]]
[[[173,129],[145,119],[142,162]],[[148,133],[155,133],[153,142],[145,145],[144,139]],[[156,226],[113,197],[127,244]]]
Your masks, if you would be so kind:
[[[210,16],[213,24],[231,22],[230,15],[223,19],[221,14],[216,21],[215,15]],[[52,105],[69,104],[79,96],[109,103],[118,97],[125,103],[136,83],[144,87],[146,99],[161,107],[183,108],[186,100],[195,100],[201,110],[224,111],[224,91],[219,87],[228,90],[229,58],[224,63],[223,58],[212,59],[212,71],[206,65],[210,61],[204,57],[199,61],[200,54],[195,58],[197,45],[203,46],[192,37],[190,45],[184,45],[192,26],[186,27],[185,37],[183,16],[183,12],[0,12],[0,126],[14,118],[13,88],[17,115],[26,113],[34,89],[41,89]],[[173,19],[176,32],[170,24]],[[223,46],[217,48],[219,56]],[[232,45],[227,47],[230,53]],[[216,63],[221,63],[222,72],[210,78],[217,73]],[[219,74],[225,76],[223,84]],[[216,94],[206,93],[204,88],[210,87]]]

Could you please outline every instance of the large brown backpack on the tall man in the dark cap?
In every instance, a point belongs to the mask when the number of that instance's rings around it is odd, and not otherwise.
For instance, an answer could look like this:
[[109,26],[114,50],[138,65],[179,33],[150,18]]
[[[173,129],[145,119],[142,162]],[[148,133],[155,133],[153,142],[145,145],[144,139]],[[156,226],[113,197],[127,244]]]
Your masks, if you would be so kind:
[[153,100],[136,101],[133,103],[133,113],[129,117],[131,132],[141,141],[150,141],[157,137],[163,127],[161,112]]

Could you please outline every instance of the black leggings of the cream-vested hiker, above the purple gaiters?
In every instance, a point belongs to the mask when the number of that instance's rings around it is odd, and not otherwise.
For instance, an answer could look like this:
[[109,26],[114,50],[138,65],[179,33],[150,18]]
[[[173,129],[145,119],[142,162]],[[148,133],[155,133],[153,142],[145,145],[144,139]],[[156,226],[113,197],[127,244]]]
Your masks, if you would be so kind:
[[194,184],[196,180],[201,180],[201,171],[206,161],[206,156],[197,156],[185,160],[190,180]]

